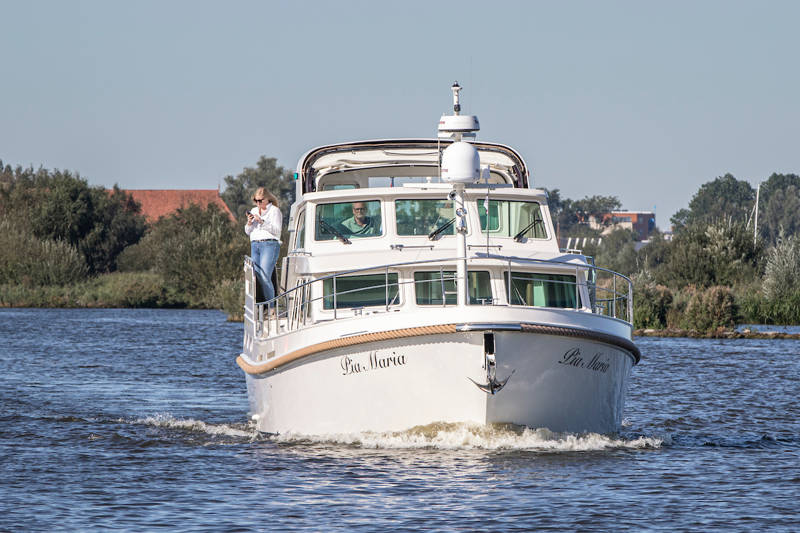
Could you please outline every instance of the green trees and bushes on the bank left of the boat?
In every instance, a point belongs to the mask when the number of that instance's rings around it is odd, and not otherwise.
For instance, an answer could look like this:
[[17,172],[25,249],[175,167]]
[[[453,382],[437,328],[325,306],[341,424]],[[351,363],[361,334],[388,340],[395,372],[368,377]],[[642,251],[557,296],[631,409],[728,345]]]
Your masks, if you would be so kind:
[[[268,187],[288,217],[294,183],[275,159],[226,176],[223,200],[190,205],[148,224],[114,186],[78,173],[0,160],[0,305],[222,308],[241,315],[244,213]],[[286,239],[283,239],[284,241]]]

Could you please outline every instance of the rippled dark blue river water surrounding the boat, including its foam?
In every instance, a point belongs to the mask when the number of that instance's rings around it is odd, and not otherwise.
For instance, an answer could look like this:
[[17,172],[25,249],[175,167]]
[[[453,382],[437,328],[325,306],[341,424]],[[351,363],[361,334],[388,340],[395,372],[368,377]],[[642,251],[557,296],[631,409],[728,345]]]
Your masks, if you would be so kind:
[[636,341],[617,436],[270,438],[222,313],[0,310],[0,530],[800,529],[800,341]]

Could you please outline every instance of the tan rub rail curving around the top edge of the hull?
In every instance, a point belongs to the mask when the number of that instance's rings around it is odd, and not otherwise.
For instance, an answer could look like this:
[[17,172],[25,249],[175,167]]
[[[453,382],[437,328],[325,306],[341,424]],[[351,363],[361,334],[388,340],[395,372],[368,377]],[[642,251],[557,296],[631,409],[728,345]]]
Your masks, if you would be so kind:
[[[525,323],[519,324],[519,326],[521,331],[527,333],[539,333],[542,335],[558,335],[563,337],[578,337],[584,339],[597,340],[600,342],[604,342],[606,344],[611,344],[612,346],[616,346],[618,348],[622,348],[623,350],[629,352],[633,356],[634,361],[636,363],[638,363],[639,359],[641,358],[641,352],[633,342],[622,337],[617,337],[616,335],[610,335],[608,333],[602,333],[597,331],[589,331],[580,328],[568,328],[563,326],[545,326],[541,324],[525,324]],[[385,341],[391,339],[401,339],[405,337],[419,337],[424,335],[456,333],[456,331],[458,331],[457,327],[458,326],[456,324],[441,324],[438,326],[419,326],[415,328],[403,328],[391,331],[363,333],[361,335],[342,337],[340,339],[332,339],[329,341],[312,344],[310,346],[306,346],[305,348],[301,348],[300,350],[289,352],[286,355],[282,355],[270,361],[265,361],[263,363],[256,365],[248,363],[240,355],[239,357],[236,358],[236,364],[238,364],[239,367],[241,367],[241,369],[247,372],[248,374],[254,374],[254,375],[264,374],[265,372],[269,372],[270,370],[274,370],[280,366],[289,364],[292,361],[296,361],[301,357],[312,355],[325,350],[331,350],[333,348],[344,348],[347,346],[355,346],[357,344],[366,344],[369,342]],[[488,331],[494,328],[487,326],[485,328],[470,329],[470,331],[481,331],[481,329],[485,329]]]

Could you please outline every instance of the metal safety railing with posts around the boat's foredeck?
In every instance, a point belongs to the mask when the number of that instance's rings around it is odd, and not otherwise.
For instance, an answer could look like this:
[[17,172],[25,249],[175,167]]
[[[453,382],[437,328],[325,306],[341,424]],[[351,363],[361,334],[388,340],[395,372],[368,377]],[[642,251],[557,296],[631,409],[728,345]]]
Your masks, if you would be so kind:
[[[487,263],[486,260],[493,260]],[[455,296],[452,292],[447,292],[445,289],[446,282],[452,282],[454,276],[449,276],[446,273],[456,269],[456,261],[462,258],[453,257],[447,259],[429,259],[421,261],[410,261],[403,263],[391,263],[379,266],[364,267],[341,272],[334,272],[326,276],[316,278],[313,280],[302,281],[299,280],[295,287],[289,288],[284,293],[276,296],[267,302],[257,302],[255,293],[255,283],[252,283],[253,294],[250,298],[246,298],[246,302],[250,303],[253,307],[245,309],[245,320],[250,319],[255,322],[255,329],[258,335],[275,334],[278,332],[293,331],[302,328],[309,324],[311,321],[312,310],[317,302],[320,302],[316,310],[317,313],[324,313],[318,315],[318,320],[337,320],[343,318],[339,306],[340,300],[343,296],[367,291],[376,291],[383,289],[383,303],[379,305],[369,305],[370,309],[385,308],[389,311],[393,307],[400,306],[400,296],[402,288],[406,285],[418,284],[440,284],[441,289],[441,304],[431,304],[431,306],[440,305],[441,307],[455,307],[455,298],[453,301],[448,302],[448,296]],[[478,260],[481,260],[478,263]],[[404,269],[418,267],[426,264],[438,263],[439,270],[438,279],[402,281],[401,272]],[[252,263],[249,257],[245,258],[246,271],[250,272],[252,281],[255,282],[254,271],[258,268]],[[515,287],[514,281],[531,281],[527,277],[519,277],[515,274],[521,273],[514,270],[514,267],[520,266],[543,266],[550,267],[547,272],[538,272],[536,269],[526,269],[523,271],[528,273],[540,274],[572,274],[574,272],[575,281],[562,281],[562,280],[546,280],[549,284],[569,286],[570,290],[574,287],[575,298],[573,309],[578,310],[591,310],[592,313],[613,317],[631,323],[633,319],[633,284],[631,280],[617,272],[597,267],[591,264],[580,263],[567,263],[564,261],[555,261],[547,259],[528,259],[522,257],[509,257],[500,255],[485,255],[473,256],[467,258],[467,268],[469,272],[477,269],[480,266],[482,269],[496,269],[499,265],[504,267],[505,276],[505,289],[504,299],[499,298],[499,295],[492,295],[490,299],[484,299],[474,305],[488,305],[488,306],[511,306],[511,307],[534,307],[526,303],[518,304],[514,302],[525,302],[525,297],[519,293]],[[470,268],[472,266],[472,268]],[[555,267],[555,268],[554,268]],[[426,272],[431,272],[426,269]],[[435,270],[433,270],[435,272]],[[339,290],[337,288],[337,280],[347,276],[357,274],[383,274],[381,283],[361,286],[357,289]],[[397,275],[397,281],[390,281],[392,274]],[[324,290],[326,281],[330,280],[331,291],[328,293]],[[585,292],[583,291],[585,289]],[[412,293],[413,294],[413,293]],[[588,297],[588,301],[587,300]],[[371,302],[373,304],[374,302]],[[247,306],[246,306],[247,307]],[[350,306],[343,307],[351,311],[347,317],[359,315],[363,313],[364,306]]]

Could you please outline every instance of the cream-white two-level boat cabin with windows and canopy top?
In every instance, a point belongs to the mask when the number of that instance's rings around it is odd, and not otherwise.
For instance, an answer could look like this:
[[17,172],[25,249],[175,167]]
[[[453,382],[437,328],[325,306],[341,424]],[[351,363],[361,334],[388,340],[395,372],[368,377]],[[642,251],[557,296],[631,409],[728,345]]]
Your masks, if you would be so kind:
[[321,280],[308,295],[316,319],[456,305],[463,233],[472,256],[467,305],[590,309],[585,260],[560,254],[546,193],[528,188],[521,157],[480,146],[488,171],[465,187],[459,228],[452,185],[438,175],[442,144],[370,141],[309,152],[298,167],[282,289]]

